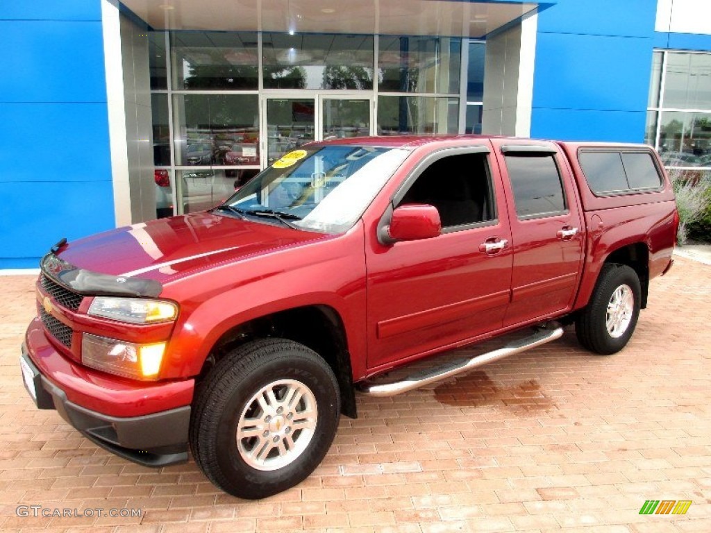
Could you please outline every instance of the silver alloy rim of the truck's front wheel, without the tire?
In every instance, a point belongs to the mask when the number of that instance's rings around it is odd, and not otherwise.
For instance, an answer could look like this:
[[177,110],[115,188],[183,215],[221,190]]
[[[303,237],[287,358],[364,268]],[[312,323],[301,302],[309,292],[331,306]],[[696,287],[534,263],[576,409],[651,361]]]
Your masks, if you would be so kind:
[[314,437],[316,397],[295,379],[271,382],[252,396],[237,422],[237,450],[256,470],[278,470],[296,461]]

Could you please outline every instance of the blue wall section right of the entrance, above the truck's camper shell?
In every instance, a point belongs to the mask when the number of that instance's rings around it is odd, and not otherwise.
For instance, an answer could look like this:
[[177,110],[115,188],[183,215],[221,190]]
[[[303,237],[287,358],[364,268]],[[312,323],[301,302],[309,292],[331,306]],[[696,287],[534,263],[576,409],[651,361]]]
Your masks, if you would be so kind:
[[531,136],[642,142],[656,0],[560,0],[538,15]]

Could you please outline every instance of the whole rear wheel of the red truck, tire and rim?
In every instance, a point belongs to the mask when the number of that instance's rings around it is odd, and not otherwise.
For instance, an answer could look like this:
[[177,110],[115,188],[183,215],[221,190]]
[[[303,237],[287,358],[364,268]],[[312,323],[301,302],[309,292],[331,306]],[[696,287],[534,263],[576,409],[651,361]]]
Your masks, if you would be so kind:
[[[619,327],[615,327],[614,313],[608,316],[608,306],[611,305],[614,295],[630,293],[633,298],[631,311],[621,313]],[[579,313],[575,321],[575,333],[579,343],[599,355],[619,352],[634,333],[640,301],[641,287],[636,271],[624,264],[604,265],[587,307]],[[611,318],[611,327],[608,325],[608,318]]]

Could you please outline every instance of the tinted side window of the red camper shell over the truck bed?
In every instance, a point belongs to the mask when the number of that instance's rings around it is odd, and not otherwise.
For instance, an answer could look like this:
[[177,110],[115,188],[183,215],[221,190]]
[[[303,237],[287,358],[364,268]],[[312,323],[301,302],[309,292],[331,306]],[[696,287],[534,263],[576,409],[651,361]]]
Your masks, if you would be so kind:
[[597,194],[629,194],[661,185],[647,152],[581,151],[578,161],[587,184]]

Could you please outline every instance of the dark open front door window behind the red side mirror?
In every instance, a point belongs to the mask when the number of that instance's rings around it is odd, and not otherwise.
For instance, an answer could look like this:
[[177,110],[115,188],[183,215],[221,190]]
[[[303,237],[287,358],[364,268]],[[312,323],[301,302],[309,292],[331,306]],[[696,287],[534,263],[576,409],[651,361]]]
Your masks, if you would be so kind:
[[408,203],[434,205],[443,228],[494,220],[486,154],[437,159],[410,185],[398,205]]

